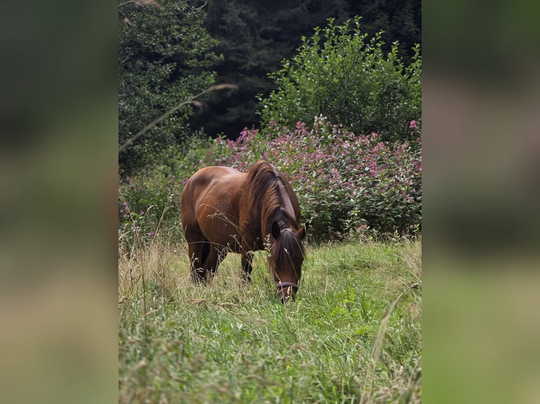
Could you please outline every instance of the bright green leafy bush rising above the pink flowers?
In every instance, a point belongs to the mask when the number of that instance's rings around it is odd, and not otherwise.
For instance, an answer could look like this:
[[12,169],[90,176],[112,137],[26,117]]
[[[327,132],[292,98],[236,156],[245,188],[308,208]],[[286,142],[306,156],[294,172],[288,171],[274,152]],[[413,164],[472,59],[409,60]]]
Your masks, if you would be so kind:
[[322,115],[357,134],[376,132],[385,141],[410,139],[407,128],[422,113],[419,45],[405,67],[398,43],[383,52],[381,32],[371,39],[360,30],[360,17],[343,25],[329,19],[296,56],[272,73],[277,88],[262,103],[262,124],[293,127]]

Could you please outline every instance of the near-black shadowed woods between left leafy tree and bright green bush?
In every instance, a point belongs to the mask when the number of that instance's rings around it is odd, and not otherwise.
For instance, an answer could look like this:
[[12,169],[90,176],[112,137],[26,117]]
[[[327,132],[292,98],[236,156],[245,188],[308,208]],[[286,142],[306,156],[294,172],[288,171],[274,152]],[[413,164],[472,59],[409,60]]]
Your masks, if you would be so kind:
[[190,125],[231,139],[244,127],[259,124],[256,96],[267,96],[275,88],[267,74],[295,54],[302,36],[311,36],[314,27],[323,27],[329,18],[340,24],[361,15],[362,30],[369,36],[384,31],[386,51],[393,42],[400,43],[405,64],[414,44],[421,43],[420,0],[210,0],[207,12],[204,27],[219,41],[216,53],[224,56],[216,65],[216,82],[236,83],[239,88],[211,94]]

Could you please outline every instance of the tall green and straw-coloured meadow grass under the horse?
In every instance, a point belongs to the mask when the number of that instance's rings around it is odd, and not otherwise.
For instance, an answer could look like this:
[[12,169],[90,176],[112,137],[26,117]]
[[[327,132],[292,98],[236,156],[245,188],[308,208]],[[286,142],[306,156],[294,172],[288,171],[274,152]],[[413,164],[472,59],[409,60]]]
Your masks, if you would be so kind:
[[121,403],[420,402],[419,240],[307,246],[283,305],[264,252],[251,285],[230,254],[195,286],[185,243],[157,233],[119,250]]

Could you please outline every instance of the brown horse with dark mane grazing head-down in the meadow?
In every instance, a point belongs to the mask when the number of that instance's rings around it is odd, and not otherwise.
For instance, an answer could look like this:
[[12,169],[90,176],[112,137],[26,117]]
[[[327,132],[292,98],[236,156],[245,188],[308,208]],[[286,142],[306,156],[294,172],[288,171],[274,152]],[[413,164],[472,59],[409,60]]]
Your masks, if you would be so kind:
[[306,228],[298,224],[295,192],[274,165],[261,160],[246,173],[202,168],[185,184],[180,212],[195,282],[213,278],[228,251],[242,254],[243,275],[251,282],[253,253],[269,246],[278,297],[295,298]]

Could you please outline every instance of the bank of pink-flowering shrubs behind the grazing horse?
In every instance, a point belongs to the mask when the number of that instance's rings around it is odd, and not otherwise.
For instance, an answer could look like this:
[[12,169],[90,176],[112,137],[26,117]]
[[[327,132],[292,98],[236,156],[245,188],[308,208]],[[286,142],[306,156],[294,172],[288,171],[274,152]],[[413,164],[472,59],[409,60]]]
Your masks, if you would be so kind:
[[309,234],[317,239],[367,230],[415,234],[422,222],[422,149],[416,122],[407,126],[417,139],[390,144],[375,133],[357,135],[330,125],[323,117],[315,119],[312,130],[303,122],[294,130],[270,122],[264,133],[245,129],[236,141],[216,139],[195,153],[198,164],[179,165],[185,170],[175,175],[132,177],[123,194],[137,212],[150,203],[157,211],[165,209],[174,194],[170,220],[178,225],[181,188],[196,170],[226,165],[245,171],[262,158],[286,174]]

